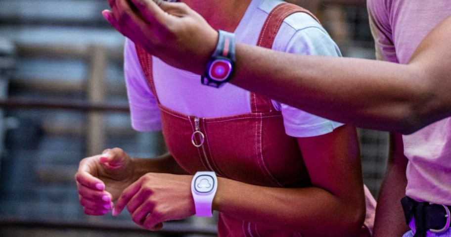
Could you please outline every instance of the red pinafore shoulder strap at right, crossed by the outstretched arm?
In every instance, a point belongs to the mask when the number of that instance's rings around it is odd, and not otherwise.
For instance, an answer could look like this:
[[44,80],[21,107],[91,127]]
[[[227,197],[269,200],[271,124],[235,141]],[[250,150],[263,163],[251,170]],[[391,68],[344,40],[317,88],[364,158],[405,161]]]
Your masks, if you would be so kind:
[[[263,24],[260,36],[257,41],[257,46],[272,48],[275,36],[283,23],[283,20],[289,15],[296,12],[304,12],[311,15],[316,21],[318,19],[310,11],[291,3],[280,3],[268,14],[265,23]],[[319,22],[319,21],[318,21]],[[254,113],[274,111],[275,108],[272,105],[270,98],[263,95],[251,93],[251,109]]]

